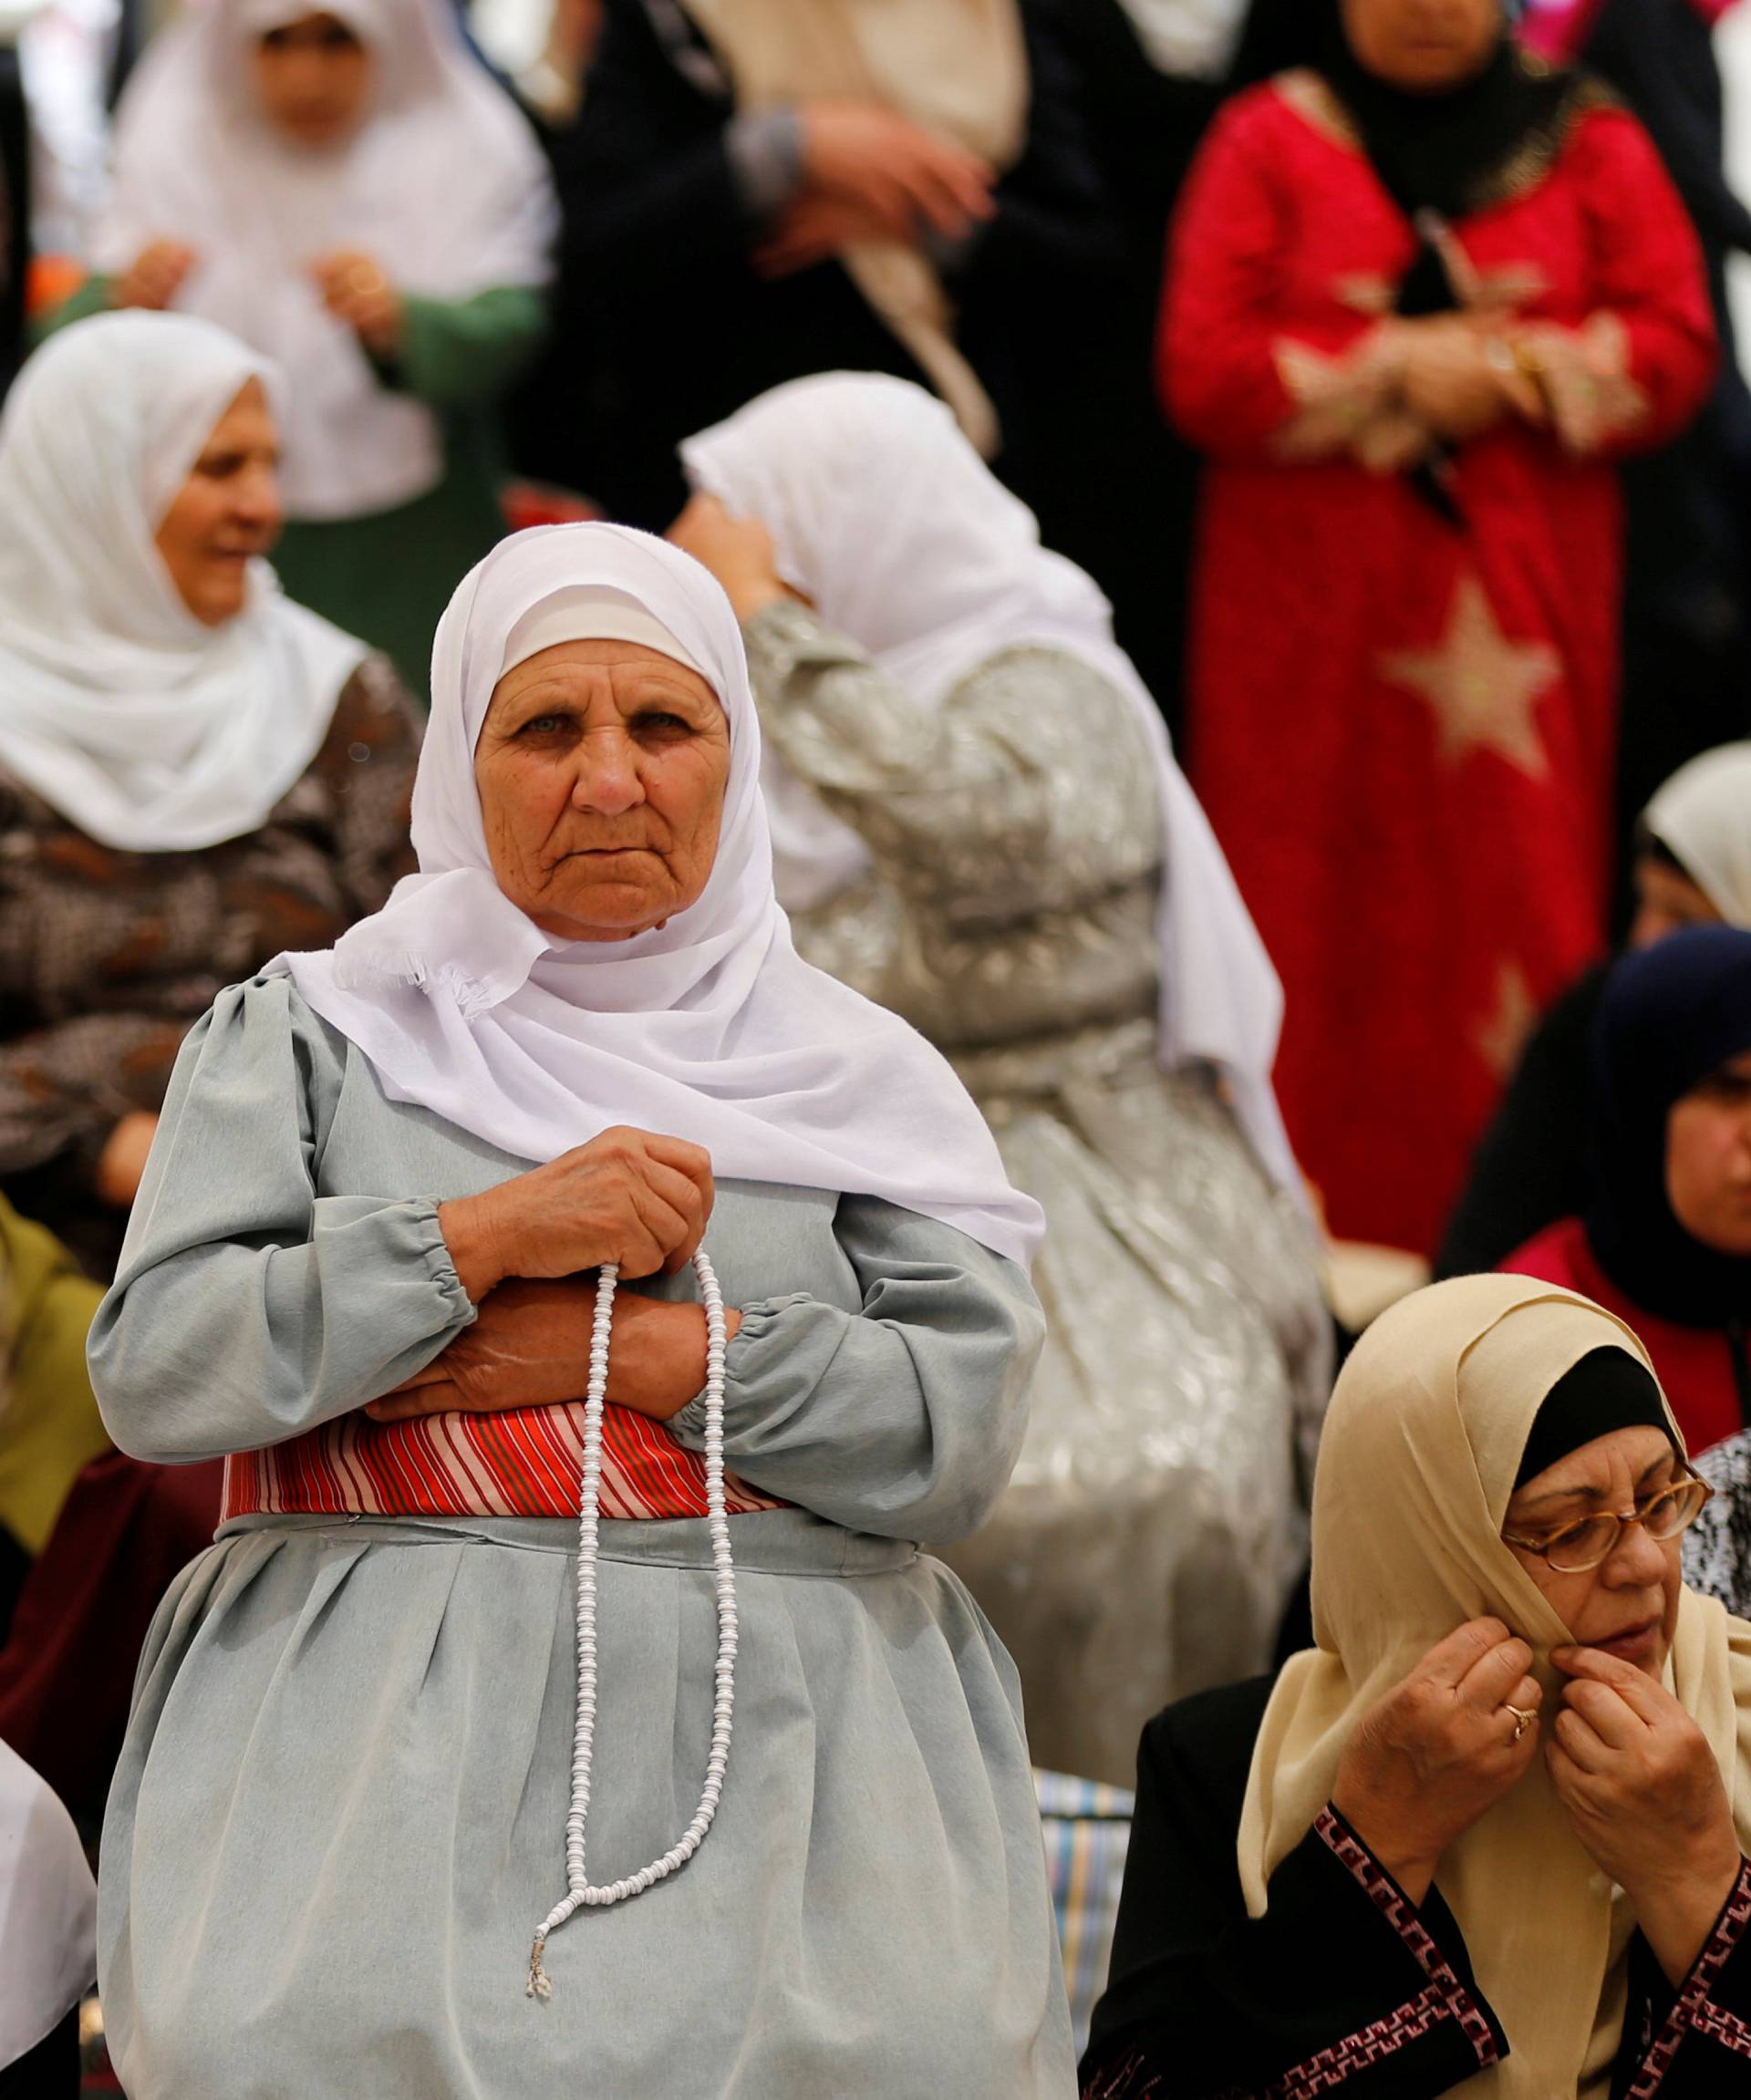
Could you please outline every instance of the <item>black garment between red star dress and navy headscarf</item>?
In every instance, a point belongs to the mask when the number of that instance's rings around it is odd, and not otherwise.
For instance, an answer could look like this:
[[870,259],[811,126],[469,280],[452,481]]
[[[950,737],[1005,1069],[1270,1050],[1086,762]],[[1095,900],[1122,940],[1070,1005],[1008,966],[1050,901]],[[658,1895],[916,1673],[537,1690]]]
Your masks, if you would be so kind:
[[1520,1054],[1447,1220],[1436,1281],[1499,1268],[1535,1233],[1591,1203],[1594,1023],[1608,968],[1577,979]]

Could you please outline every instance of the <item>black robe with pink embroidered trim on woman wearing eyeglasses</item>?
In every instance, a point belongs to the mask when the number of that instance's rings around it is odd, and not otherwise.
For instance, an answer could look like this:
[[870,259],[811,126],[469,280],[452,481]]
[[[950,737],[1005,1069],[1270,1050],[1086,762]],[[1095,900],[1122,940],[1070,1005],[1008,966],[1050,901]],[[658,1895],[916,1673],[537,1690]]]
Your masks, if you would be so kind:
[[[1413,1907],[1333,1810],[1272,1873],[1264,1917],[1247,1917],[1235,1842],[1268,1697],[1268,1678],[1199,1693],[1142,1732],[1083,2100],[1436,2100],[1512,2050],[1438,1890]],[[1615,2100],[1654,2054],[1669,2056],[1661,2100],[1745,2090],[1732,2037],[1747,2016],[1751,1863],[1684,1999],[1636,1934]]]

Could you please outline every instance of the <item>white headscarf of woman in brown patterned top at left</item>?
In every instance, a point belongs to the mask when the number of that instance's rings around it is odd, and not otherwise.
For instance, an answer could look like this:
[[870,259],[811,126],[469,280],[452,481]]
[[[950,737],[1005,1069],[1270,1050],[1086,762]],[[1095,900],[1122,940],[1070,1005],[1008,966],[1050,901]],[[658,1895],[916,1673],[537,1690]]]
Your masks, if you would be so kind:
[[365,645],[252,563],[204,626],[153,533],[212,426],[269,365],[166,313],[78,321],[0,418],[0,764],[105,846],[254,832],[321,750]]

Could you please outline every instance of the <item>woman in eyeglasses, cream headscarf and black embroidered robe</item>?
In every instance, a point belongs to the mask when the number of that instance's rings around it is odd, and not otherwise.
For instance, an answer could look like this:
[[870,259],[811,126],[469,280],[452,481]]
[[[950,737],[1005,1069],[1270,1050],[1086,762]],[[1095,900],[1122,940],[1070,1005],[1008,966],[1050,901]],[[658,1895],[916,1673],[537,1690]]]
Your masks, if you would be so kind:
[[1144,1730],[1085,2100],[1717,2100],[1751,2081],[1751,1625],[1684,1588],[1636,1336],[1524,1277],[1379,1319],[1316,1648]]

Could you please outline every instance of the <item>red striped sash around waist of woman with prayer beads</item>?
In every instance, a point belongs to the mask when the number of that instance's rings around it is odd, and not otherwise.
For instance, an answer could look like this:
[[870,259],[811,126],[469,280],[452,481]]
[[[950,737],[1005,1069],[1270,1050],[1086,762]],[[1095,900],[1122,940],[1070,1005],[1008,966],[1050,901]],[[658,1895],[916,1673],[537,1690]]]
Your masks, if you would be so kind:
[[[225,1516],[575,1516],[584,1478],[584,1403],[502,1413],[372,1422],[319,1430],[225,1462]],[[705,1460],[661,1422],[603,1409],[603,1516],[703,1516]],[[724,1474],[724,1508],[781,1510]]]

